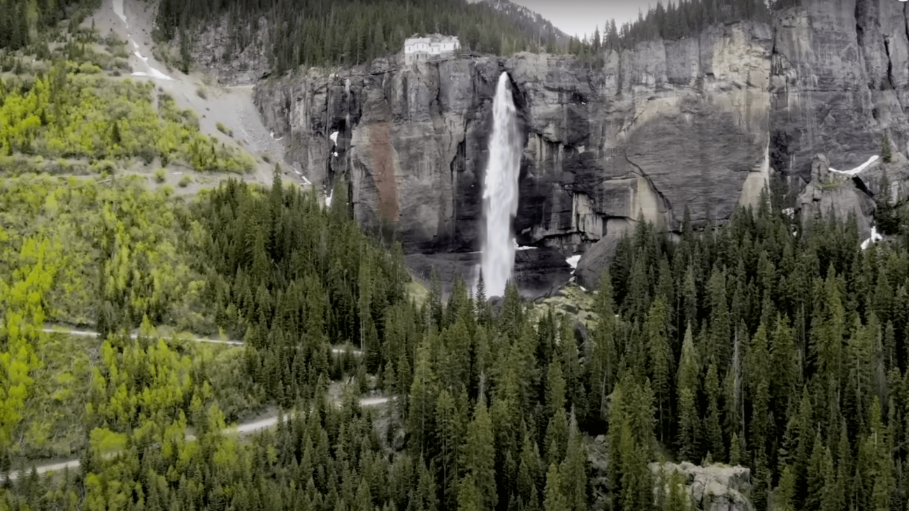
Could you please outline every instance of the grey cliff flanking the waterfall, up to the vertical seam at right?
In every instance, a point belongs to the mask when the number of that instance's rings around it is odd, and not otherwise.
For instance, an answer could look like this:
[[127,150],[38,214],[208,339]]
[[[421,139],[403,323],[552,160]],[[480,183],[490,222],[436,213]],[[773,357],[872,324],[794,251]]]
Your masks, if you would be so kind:
[[675,226],[685,205],[696,221],[727,217],[764,182],[768,27],[714,27],[669,46],[606,55],[598,70],[530,54],[375,61],[270,82],[255,97],[311,181],[352,176],[362,223],[394,224],[411,253],[475,251],[494,86],[508,72],[526,134],[517,241],[570,254],[639,216]]

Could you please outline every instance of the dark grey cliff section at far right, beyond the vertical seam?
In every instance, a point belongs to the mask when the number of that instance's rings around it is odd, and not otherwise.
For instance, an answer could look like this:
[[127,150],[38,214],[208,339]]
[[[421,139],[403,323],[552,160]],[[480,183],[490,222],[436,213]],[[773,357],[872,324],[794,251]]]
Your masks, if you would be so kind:
[[824,154],[848,169],[880,154],[887,133],[907,150],[906,4],[804,2],[774,15],[772,165],[808,181]]

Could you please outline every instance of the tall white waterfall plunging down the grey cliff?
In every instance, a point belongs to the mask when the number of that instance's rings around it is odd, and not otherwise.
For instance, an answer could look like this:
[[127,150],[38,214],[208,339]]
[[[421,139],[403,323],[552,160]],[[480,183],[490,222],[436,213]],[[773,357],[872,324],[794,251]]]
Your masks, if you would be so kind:
[[512,218],[517,214],[521,139],[507,73],[499,76],[493,100],[493,134],[483,190],[485,238],[483,276],[487,296],[504,296],[514,269]]

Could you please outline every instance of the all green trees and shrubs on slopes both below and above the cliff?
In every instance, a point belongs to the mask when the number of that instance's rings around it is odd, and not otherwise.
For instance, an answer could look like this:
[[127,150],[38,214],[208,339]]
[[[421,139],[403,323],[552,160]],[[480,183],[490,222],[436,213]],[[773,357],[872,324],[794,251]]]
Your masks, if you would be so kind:
[[[482,275],[444,296],[345,177],[329,205],[280,165],[246,180],[241,145],[120,76],[95,8],[0,0],[0,511],[694,511],[664,462],[746,467],[758,511],[909,509],[905,202],[877,195],[865,247],[778,178],[725,223],[641,220],[596,289],[568,285],[589,321]],[[237,50],[265,19],[282,74],[436,31],[593,58],[770,7],[659,4],[557,47],[462,0],[161,0],[156,35],[215,16]],[[125,171],[153,162],[225,179]]]

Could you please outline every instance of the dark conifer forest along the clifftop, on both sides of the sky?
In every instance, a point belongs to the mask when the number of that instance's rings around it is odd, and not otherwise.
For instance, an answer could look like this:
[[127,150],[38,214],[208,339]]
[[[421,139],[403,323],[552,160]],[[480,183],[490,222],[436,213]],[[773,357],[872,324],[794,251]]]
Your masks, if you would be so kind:
[[[774,8],[797,0],[778,0]],[[200,27],[226,16],[233,40],[223,55],[230,59],[248,45],[265,45],[269,65],[281,74],[298,66],[356,65],[397,53],[414,34],[458,35],[464,49],[496,55],[518,51],[569,53],[587,58],[601,50],[624,50],[654,39],[696,36],[709,25],[735,20],[770,22],[766,0],[679,0],[659,2],[634,22],[608,20],[583,40],[568,37],[539,15],[506,1],[466,0],[306,0],[277,3],[212,0],[162,0],[158,36],[180,35],[184,58]],[[265,25],[260,25],[265,21]],[[261,42],[257,37],[267,33]]]

